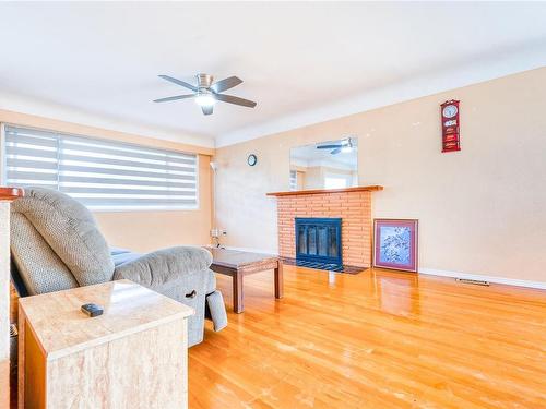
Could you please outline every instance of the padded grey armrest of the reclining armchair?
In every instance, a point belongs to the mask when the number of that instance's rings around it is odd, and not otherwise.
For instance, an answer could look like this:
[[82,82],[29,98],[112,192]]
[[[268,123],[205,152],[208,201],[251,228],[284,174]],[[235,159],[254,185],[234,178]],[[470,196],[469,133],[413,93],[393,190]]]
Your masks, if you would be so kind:
[[206,270],[212,255],[202,248],[177,246],[157,250],[116,267],[114,279],[127,278],[154,288],[182,276]]

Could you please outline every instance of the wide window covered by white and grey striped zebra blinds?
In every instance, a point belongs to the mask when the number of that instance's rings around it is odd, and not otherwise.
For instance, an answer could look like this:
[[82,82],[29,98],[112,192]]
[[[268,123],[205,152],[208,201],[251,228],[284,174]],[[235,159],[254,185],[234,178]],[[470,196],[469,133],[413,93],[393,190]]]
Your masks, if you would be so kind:
[[198,207],[197,155],[4,127],[3,182],[45,187],[91,209]]

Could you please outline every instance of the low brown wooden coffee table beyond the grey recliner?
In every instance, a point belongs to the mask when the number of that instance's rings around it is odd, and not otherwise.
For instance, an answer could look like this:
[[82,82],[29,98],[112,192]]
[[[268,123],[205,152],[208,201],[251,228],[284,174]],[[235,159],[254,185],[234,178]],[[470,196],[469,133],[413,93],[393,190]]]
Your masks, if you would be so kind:
[[283,298],[283,262],[270,254],[248,253],[227,249],[207,249],[212,253],[213,272],[230,276],[233,279],[234,312],[245,310],[242,277],[273,269],[275,273],[275,298]]

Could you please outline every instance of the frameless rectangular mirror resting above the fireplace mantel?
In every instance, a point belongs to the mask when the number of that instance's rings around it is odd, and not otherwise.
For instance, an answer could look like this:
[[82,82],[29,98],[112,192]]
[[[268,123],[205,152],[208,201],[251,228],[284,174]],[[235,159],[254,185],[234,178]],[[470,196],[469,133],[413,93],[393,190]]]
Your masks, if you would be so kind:
[[290,149],[290,190],[358,185],[358,140],[347,136]]

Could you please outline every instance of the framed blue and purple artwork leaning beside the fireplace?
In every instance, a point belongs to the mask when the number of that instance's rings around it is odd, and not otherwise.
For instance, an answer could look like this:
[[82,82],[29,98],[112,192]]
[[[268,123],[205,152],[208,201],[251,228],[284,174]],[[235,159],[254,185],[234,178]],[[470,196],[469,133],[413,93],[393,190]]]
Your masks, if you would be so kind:
[[417,272],[415,219],[373,219],[373,267]]

